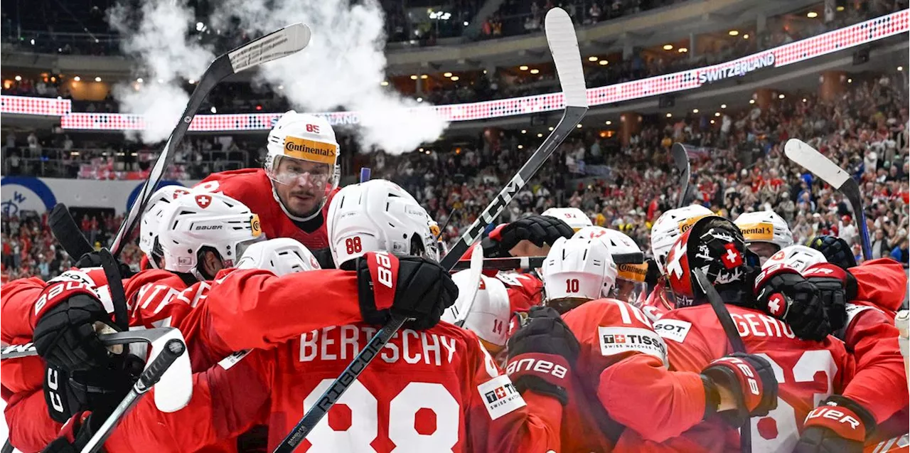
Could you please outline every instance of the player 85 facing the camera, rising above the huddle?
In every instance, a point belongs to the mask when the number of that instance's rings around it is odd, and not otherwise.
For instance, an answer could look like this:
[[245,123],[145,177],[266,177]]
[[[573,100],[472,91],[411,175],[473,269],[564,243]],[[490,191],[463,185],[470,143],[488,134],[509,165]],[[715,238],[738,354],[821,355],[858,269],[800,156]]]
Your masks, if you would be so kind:
[[220,192],[243,202],[268,219],[266,237],[293,237],[314,252],[328,247],[325,215],[338,191],[340,151],[332,126],[322,117],[290,110],[268,133],[266,151],[263,168],[216,173],[194,191]]

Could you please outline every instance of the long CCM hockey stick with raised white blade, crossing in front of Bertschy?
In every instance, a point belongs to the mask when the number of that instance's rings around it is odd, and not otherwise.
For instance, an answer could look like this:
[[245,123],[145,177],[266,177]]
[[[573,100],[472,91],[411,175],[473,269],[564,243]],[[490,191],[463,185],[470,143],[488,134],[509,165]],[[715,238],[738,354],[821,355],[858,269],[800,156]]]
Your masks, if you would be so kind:
[[[521,190],[531,176],[537,173],[537,170],[543,166],[544,162],[552,155],[553,151],[559,146],[571,131],[575,130],[581,118],[588,112],[588,99],[584,86],[584,72],[581,70],[581,54],[578,49],[578,39],[575,37],[575,29],[571,25],[571,18],[561,8],[552,8],[547,12],[545,26],[547,42],[550,45],[550,51],[553,55],[553,62],[556,64],[556,72],[559,75],[562,93],[565,96],[566,109],[562,114],[560,123],[553,129],[550,136],[543,141],[541,146],[531,154],[528,162],[521,166],[518,173],[511,178],[511,181],[502,189],[480,214],[473,225],[468,228],[464,236],[451,248],[448,255],[442,258],[440,264],[446,269],[455,266],[461,256],[468,251],[474,241],[476,241],[483,229],[500,215],[502,210],[511,201],[512,196]],[[379,350],[389,342],[391,336],[395,334],[404,325],[406,319],[403,317],[392,317],[388,324],[379,329],[375,336],[370,338],[367,346],[360,351],[357,357],[350,365],[345,368],[335,382],[319,397],[303,418],[298,421],[297,426],[288,433],[288,436],[281,441],[275,452],[290,453],[297,448],[300,442],[307,437],[307,434],[316,427],[323,417],[329,413],[331,408],[341,395],[349,388],[351,383],[357,379],[370,360],[379,353]]]

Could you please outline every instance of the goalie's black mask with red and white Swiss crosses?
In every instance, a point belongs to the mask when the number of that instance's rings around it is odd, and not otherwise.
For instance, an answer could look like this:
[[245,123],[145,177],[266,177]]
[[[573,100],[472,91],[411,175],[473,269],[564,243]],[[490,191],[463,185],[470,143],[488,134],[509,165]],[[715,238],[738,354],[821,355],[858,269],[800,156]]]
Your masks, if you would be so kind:
[[667,255],[667,281],[675,307],[707,301],[693,275],[695,268],[702,270],[725,303],[746,301],[747,294],[752,294],[754,278],[753,267],[748,263],[755,261],[748,255],[743,234],[733,222],[721,216],[699,219],[682,233]]

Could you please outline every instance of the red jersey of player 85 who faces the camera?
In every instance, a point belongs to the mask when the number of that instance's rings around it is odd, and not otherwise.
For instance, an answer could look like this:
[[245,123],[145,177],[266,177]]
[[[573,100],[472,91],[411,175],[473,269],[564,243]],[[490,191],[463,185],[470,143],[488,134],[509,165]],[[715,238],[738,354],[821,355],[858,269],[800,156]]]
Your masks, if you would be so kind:
[[214,173],[203,179],[194,187],[196,191],[219,192],[237,199],[247,205],[262,220],[262,231],[268,238],[291,237],[310,249],[329,247],[329,235],[326,230],[326,215],[332,196],[339,189],[329,192],[322,213],[308,222],[309,231],[302,229],[291,220],[278,202],[278,196],[272,190],[272,181],[262,168],[247,168]]

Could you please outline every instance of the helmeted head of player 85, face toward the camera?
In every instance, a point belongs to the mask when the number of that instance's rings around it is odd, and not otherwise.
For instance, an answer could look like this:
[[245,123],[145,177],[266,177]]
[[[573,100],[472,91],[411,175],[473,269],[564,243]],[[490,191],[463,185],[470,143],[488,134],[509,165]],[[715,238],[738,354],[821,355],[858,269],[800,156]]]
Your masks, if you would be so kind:
[[339,144],[329,122],[290,110],[269,131],[266,150],[266,175],[285,214],[298,221],[319,214],[338,186]]

